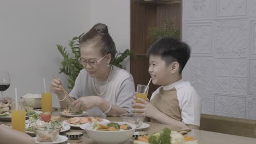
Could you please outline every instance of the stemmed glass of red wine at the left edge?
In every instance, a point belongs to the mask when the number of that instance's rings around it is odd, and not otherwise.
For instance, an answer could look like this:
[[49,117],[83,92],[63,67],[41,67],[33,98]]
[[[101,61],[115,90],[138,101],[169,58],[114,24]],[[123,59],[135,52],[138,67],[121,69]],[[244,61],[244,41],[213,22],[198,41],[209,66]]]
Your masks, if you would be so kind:
[[3,92],[8,89],[10,86],[10,76],[8,71],[1,71],[0,70],[0,91],[2,92],[2,99],[3,99]]

